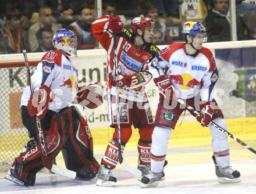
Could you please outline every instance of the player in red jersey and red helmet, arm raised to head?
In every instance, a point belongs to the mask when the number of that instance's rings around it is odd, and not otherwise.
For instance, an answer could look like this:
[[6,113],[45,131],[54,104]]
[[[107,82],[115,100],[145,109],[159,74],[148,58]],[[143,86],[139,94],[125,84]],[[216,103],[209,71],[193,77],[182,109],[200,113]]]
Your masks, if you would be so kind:
[[[94,21],[92,29],[95,38],[107,52],[108,80],[106,92],[108,95],[109,124],[115,128],[113,138],[106,147],[98,172],[97,185],[113,186],[116,178],[112,169],[118,164],[118,135],[116,121],[115,86],[120,89],[120,134],[122,152],[131,136],[131,125],[138,128],[138,169],[143,174],[150,168],[151,135],[154,120],[150,105],[144,91],[144,86],[151,79],[147,73],[148,62],[158,53],[157,46],[151,44],[154,21],[147,17],[135,17],[131,21],[132,33],[124,28],[119,16],[105,15]],[[114,39],[116,33],[117,71],[119,79],[115,80]],[[134,83],[138,83],[135,84]]]

